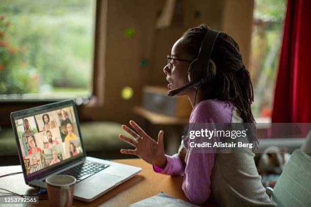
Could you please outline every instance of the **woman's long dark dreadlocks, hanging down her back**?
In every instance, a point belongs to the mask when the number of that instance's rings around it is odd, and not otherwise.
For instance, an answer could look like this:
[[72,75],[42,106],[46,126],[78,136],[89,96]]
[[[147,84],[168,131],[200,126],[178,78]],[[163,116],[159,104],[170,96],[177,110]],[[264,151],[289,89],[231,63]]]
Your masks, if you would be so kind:
[[[181,44],[189,54],[196,58],[206,31],[210,29],[201,24],[184,32]],[[215,63],[214,78],[203,87],[203,99],[219,99],[230,101],[238,109],[244,123],[251,123],[248,140],[259,145],[256,139],[255,119],[251,110],[254,102],[254,91],[250,73],[246,70],[238,44],[227,33],[220,32],[211,53],[211,60]]]

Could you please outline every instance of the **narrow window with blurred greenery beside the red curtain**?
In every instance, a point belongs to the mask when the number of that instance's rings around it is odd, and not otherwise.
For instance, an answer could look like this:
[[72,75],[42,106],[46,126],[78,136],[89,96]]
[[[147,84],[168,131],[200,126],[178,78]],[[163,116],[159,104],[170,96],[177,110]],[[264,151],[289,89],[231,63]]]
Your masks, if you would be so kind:
[[270,117],[286,0],[255,0],[250,72],[254,85],[255,117]]

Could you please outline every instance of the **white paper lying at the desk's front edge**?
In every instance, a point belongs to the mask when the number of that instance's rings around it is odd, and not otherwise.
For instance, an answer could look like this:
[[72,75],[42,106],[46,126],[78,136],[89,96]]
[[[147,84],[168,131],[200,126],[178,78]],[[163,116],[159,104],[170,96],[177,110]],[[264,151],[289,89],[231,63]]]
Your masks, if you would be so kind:
[[152,196],[150,198],[146,198],[144,200],[128,205],[128,207],[152,207],[152,206],[198,207],[198,205],[174,198],[163,192],[160,192],[157,195]]

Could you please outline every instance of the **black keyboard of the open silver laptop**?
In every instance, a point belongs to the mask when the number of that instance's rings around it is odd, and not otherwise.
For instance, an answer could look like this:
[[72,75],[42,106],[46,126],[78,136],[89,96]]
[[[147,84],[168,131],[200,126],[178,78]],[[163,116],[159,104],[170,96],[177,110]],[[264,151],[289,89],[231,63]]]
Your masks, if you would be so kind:
[[110,165],[108,164],[100,164],[97,162],[90,162],[90,161],[85,161],[77,166],[74,166],[72,168],[69,168],[63,172],[60,172],[58,175],[69,175],[73,176],[77,179],[77,183],[92,176],[97,174],[103,169],[106,169]]

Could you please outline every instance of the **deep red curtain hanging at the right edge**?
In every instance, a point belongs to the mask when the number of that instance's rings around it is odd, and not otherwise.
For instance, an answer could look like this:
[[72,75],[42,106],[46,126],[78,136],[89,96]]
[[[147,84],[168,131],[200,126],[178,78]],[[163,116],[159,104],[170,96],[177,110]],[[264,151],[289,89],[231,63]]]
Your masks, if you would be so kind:
[[310,0],[288,0],[287,2],[272,122],[311,122]]

